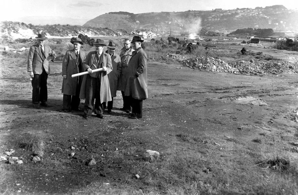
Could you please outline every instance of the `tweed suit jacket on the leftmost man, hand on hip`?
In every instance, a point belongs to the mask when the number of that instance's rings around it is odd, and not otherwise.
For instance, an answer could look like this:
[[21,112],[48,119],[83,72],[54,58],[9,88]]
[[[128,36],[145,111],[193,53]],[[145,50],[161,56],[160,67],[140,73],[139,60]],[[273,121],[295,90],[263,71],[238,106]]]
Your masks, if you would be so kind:
[[42,66],[46,73],[50,73],[49,61],[54,61],[56,58],[56,52],[53,51],[49,46],[44,45],[45,56],[40,51],[39,44],[30,46],[28,54],[27,71],[33,72],[34,74],[42,73]]

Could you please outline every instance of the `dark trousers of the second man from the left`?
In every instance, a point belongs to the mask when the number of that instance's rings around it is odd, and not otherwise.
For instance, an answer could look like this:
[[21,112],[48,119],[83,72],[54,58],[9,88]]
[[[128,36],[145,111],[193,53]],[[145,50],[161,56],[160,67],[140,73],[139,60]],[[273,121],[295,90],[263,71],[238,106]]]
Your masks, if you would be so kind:
[[66,95],[63,94],[63,110],[77,110],[79,108],[81,99],[80,89],[82,85],[82,76],[79,76],[76,86],[76,95]]

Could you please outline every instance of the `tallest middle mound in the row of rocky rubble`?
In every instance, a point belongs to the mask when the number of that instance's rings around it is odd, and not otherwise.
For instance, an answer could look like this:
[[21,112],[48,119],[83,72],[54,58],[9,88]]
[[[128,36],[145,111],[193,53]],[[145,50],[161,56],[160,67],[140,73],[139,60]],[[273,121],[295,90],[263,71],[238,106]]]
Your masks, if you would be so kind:
[[228,63],[222,61],[221,59],[215,59],[213,57],[195,57],[185,59],[181,62],[183,65],[190,68],[207,71],[207,72],[219,72],[219,73],[235,73],[237,74],[239,70],[237,68],[231,67]]

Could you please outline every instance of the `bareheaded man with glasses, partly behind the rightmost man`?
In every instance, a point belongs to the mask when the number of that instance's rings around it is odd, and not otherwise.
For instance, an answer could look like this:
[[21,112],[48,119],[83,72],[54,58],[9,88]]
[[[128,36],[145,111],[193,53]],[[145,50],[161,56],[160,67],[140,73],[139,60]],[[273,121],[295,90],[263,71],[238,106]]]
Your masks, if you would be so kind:
[[128,63],[130,61],[132,52],[135,51],[132,49],[130,45],[129,39],[124,39],[123,48],[120,51],[120,59],[121,59],[121,74],[118,79],[118,90],[121,91],[122,98],[123,98],[123,108],[120,108],[120,110],[126,111],[127,113],[131,113],[131,106],[130,106],[130,100],[128,96],[125,96],[124,90],[126,83],[128,81]]

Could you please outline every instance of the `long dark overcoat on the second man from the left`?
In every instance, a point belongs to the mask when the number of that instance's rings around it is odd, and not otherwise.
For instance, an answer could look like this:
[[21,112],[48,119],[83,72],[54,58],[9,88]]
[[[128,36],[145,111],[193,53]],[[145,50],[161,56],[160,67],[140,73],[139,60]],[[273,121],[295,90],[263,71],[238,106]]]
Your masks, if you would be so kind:
[[[83,64],[86,53],[80,50],[79,53],[81,65]],[[72,74],[79,73],[79,67],[77,64],[76,52],[74,49],[66,51],[65,56],[62,61],[62,75],[66,75],[66,79],[62,81],[62,93],[65,95],[76,95],[77,89],[77,80],[79,77],[72,78]],[[81,71],[82,72],[82,71]]]

